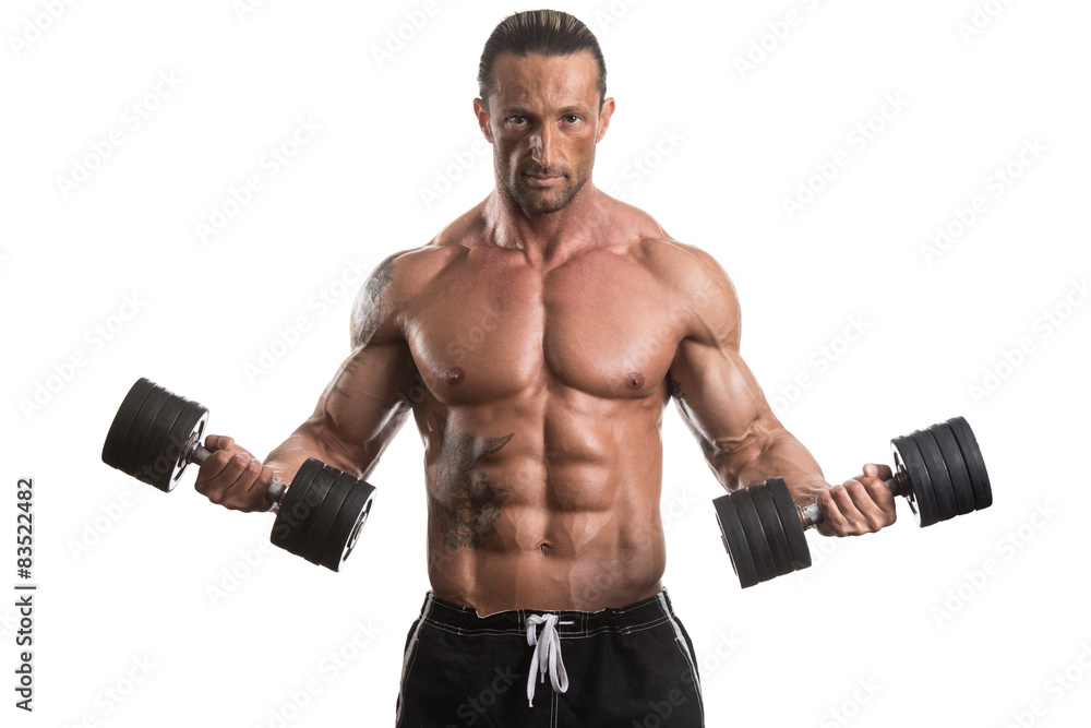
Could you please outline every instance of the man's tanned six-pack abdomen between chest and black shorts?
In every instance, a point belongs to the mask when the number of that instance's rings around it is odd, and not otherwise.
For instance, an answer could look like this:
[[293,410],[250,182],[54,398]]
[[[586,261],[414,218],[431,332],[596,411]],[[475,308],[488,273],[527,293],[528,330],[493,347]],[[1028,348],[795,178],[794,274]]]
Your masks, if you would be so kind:
[[[597,432],[570,430],[570,446],[558,442],[568,440],[563,433],[550,447],[517,434],[499,447],[500,439],[463,437],[471,455],[444,447],[428,464],[429,578],[437,597],[484,616],[598,611],[662,589],[658,427],[598,422]],[[553,450],[562,454],[542,456]]]

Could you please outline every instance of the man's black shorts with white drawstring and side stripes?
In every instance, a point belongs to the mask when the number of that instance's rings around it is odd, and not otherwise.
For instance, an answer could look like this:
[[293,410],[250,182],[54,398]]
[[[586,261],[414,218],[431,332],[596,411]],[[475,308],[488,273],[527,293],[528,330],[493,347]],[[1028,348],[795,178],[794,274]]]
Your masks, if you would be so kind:
[[488,617],[429,592],[406,640],[396,728],[704,725],[693,643],[666,589],[594,613]]

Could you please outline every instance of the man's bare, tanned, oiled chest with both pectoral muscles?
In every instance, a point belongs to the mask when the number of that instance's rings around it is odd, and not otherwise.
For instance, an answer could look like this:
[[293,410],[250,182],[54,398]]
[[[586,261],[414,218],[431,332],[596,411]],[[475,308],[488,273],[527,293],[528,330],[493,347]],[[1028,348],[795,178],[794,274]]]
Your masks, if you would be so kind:
[[407,337],[421,378],[447,405],[559,386],[645,397],[667,375],[681,339],[672,297],[616,255],[546,274],[511,258],[471,256],[413,301]]

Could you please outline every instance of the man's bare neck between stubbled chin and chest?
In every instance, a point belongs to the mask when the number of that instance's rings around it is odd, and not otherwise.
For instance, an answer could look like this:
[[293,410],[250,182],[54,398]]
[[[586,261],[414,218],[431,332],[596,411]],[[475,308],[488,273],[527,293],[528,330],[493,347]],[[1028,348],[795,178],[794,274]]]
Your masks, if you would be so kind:
[[602,192],[590,179],[555,213],[528,213],[502,186],[484,201],[487,237],[501,248],[523,250],[530,262],[547,262],[598,238]]

